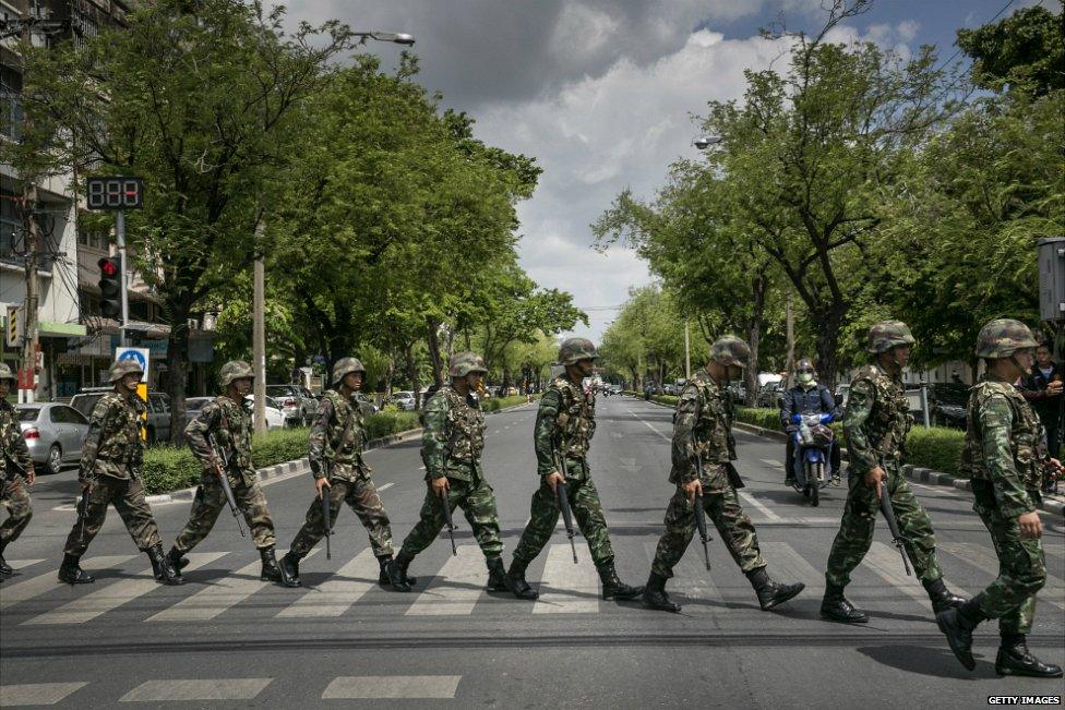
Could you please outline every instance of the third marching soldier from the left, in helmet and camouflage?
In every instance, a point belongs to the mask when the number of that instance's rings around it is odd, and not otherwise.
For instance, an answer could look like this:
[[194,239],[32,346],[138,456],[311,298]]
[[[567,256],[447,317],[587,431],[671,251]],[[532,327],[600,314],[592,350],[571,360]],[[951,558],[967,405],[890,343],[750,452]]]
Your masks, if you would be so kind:
[[[259,484],[259,474],[251,460],[251,414],[244,408],[243,401],[251,392],[254,377],[255,374],[247,362],[234,360],[224,364],[219,382],[225,394],[204,405],[196,418],[186,426],[186,441],[200,460],[203,474],[192,501],[189,521],[173,541],[168,557],[179,573],[189,564],[184,553],[207,537],[218,519],[218,514],[226,506],[226,491],[219,478],[225,476],[262,557],[260,579],[296,587],[294,580],[277,564],[274,553],[274,521],[270,517],[266,496]],[[219,450],[215,450],[215,445]],[[225,456],[225,461],[219,460],[219,455]]]

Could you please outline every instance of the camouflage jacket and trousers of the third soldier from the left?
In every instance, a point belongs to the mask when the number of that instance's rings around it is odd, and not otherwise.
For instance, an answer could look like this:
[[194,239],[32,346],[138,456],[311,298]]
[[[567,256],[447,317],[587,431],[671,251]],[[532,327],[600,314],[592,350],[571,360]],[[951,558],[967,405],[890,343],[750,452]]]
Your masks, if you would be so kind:
[[216,397],[204,405],[196,418],[189,422],[184,429],[184,437],[189,448],[200,460],[203,473],[196,495],[192,500],[189,521],[173,541],[175,550],[186,553],[200,544],[227,505],[226,492],[215,468],[222,461],[215,455],[208,437],[213,437],[226,453],[229,462],[226,476],[229,478],[237,507],[248,521],[255,547],[273,547],[274,521],[251,460],[251,414],[248,410],[227,395]]

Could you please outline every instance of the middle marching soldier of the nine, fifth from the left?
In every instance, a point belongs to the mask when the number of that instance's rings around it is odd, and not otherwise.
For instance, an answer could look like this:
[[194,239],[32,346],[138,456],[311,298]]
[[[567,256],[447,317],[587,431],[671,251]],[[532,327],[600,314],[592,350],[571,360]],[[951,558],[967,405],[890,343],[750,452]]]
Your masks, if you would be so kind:
[[488,566],[488,590],[507,591],[503,570],[503,542],[500,540],[495,493],[484,480],[481,452],[484,448],[484,416],[475,393],[488,372],[484,361],[472,352],[457,352],[448,362],[451,384],[441,387],[424,407],[422,458],[429,490],[421,506],[421,519],[403,541],[393,565],[403,583],[398,591],[410,589],[407,567],[415,556],[432,544],[444,527],[443,506],[460,507],[484,553]]

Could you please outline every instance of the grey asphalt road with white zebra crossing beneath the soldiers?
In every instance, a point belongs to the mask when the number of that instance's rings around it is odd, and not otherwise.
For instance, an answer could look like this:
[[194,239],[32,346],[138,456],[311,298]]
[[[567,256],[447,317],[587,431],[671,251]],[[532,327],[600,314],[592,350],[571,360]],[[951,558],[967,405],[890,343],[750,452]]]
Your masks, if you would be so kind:
[[[593,476],[618,569],[643,583],[672,493],[671,412],[623,397],[600,398],[598,412]],[[534,419],[532,406],[488,418],[484,469],[507,551],[537,484]],[[226,512],[194,551],[188,583],[158,586],[111,510],[83,559],[96,583],[71,588],[55,575],[74,520],[64,505],[74,472],[43,478],[34,520],[8,550],[19,574],[0,583],[0,703],[320,707],[394,698],[410,707],[971,708],[993,695],[1062,694],[1060,681],[995,676],[993,624],[978,630],[977,670],[965,671],[936,629],[920,582],[902,573],[883,522],[848,588],[872,621],[823,621],[823,573],[843,490],[826,489],[812,508],[781,483],[782,444],[742,432],[737,440],[747,483],[742,498],[769,573],[807,587],[771,613],[758,609],[713,531],[713,571],[705,571],[696,540],[668,587],[682,614],[600,601],[587,547],[578,541],[574,565],[561,528],[529,568],[539,602],[488,593],[483,558],[458,517],[459,555],[452,557],[442,537],[412,564],[415,591],[395,593],[376,586],[367,535],[349,510],[337,520],[333,559],[321,549],[304,559],[304,587],[294,590],[259,581],[258,554]],[[418,447],[408,442],[368,456],[397,546],[424,495]],[[932,516],[948,582],[974,593],[997,564],[968,495],[914,489]],[[311,502],[310,477],[271,482],[265,491],[284,549]],[[188,508],[155,506],[167,549]],[[1051,582],[1029,642],[1044,660],[1065,663],[1062,518],[1044,514],[1043,522]]]

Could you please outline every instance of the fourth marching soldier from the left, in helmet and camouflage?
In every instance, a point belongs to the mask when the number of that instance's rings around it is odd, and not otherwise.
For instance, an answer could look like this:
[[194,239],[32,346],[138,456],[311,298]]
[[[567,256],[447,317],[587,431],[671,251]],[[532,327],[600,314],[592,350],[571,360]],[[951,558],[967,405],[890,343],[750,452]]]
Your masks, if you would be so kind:
[[[311,425],[310,461],[314,474],[316,500],[307,510],[307,520],[282,557],[282,568],[299,585],[299,562],[326,533],[347,503],[370,533],[370,546],[381,565],[382,585],[407,587],[392,562],[392,527],[378,489],[370,478],[371,469],[362,459],[367,443],[366,423],[351,396],[362,387],[366,368],[357,358],[342,358],[333,366],[333,389],[322,397]],[[322,496],[330,496],[330,520],[322,515]],[[391,573],[390,573],[391,570]],[[391,576],[390,576],[391,575]]]

